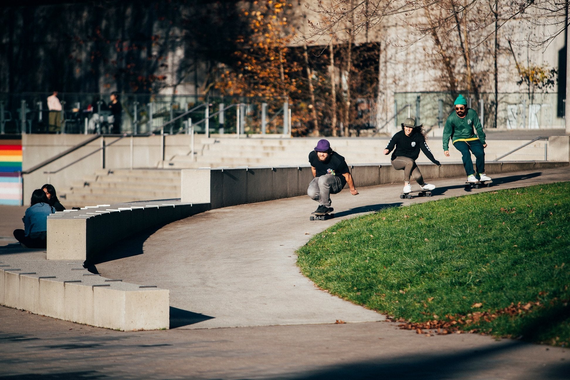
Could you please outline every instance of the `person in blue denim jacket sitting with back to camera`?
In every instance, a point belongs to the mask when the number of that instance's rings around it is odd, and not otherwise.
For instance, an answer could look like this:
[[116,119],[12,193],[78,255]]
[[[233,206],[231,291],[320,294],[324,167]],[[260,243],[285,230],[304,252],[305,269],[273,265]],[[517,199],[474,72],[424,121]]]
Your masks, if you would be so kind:
[[26,248],[47,247],[47,215],[55,213],[55,209],[48,204],[46,193],[36,189],[32,193],[30,207],[22,218],[23,230],[14,230],[14,238]]

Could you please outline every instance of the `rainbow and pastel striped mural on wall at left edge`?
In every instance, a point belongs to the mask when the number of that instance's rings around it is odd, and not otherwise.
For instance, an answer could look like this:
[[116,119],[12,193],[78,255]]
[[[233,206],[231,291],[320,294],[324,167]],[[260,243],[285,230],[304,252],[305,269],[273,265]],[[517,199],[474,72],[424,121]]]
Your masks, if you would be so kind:
[[[7,136],[6,136],[7,137]],[[0,136],[0,205],[22,204],[22,140]]]

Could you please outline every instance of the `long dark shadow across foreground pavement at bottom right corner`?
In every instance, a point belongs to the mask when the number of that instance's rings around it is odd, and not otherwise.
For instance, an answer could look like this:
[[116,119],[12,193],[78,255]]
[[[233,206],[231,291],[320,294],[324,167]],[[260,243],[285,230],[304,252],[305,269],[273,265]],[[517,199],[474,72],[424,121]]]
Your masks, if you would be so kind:
[[[524,343],[511,341],[487,349],[467,349],[455,354],[425,354],[402,356],[400,358],[375,359],[353,362],[345,365],[331,366],[323,370],[311,371],[309,374],[287,376],[294,380],[364,380],[364,379],[398,379],[398,380],[435,380],[435,379],[475,379],[480,370],[488,369],[497,354],[521,348]],[[500,362],[497,360],[497,362]],[[500,375],[496,378],[506,378]],[[503,369],[504,371],[504,369]],[[514,374],[511,374],[514,375]],[[280,376],[278,378],[284,378]],[[483,377],[481,377],[483,378]],[[487,377],[484,377],[487,378]],[[492,377],[495,378],[495,377]],[[508,378],[511,378],[510,376]],[[516,377],[513,377],[516,378]],[[570,363],[552,367],[536,367],[535,373],[527,373],[524,378],[541,380],[570,379]]]

